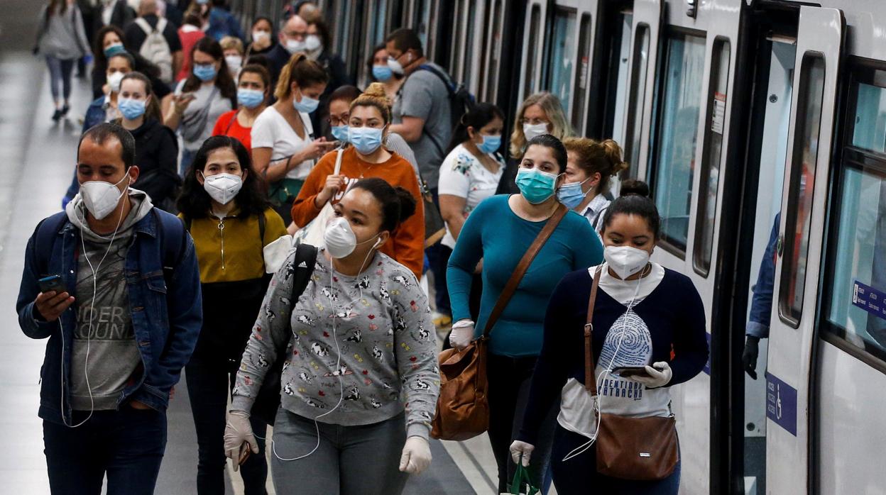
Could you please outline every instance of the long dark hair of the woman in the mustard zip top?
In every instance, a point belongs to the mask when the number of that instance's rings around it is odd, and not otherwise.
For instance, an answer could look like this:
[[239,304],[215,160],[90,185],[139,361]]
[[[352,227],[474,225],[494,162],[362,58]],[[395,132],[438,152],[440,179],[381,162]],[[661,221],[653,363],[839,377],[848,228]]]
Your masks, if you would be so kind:
[[246,219],[253,215],[260,215],[270,206],[264,183],[259,174],[256,174],[253,161],[249,158],[249,151],[246,151],[243,143],[240,143],[235,137],[214,135],[203,142],[197,155],[194,156],[194,161],[188,167],[188,172],[184,174],[182,192],[175,202],[178,211],[184,215],[184,218],[195,219],[209,216],[209,211],[212,209],[212,199],[206,189],[203,189],[203,185],[197,181],[197,171],[205,170],[209,153],[221,148],[233,150],[240,162],[240,168],[247,171],[243,188],[234,198],[237,201],[237,207],[240,208],[237,218]]

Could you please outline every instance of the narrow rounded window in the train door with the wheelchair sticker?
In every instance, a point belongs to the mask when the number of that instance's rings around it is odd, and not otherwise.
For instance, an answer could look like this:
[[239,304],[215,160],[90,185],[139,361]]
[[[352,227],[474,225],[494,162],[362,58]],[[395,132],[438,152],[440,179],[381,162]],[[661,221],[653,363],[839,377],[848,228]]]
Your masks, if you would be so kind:
[[806,287],[806,262],[812,222],[812,191],[815,189],[815,164],[819,156],[821,102],[824,96],[825,61],[807,53],[800,65],[800,91],[797,100],[797,124],[794,130],[793,158],[790,167],[789,197],[784,257],[781,264],[779,313],[781,319],[797,328],[803,311]]

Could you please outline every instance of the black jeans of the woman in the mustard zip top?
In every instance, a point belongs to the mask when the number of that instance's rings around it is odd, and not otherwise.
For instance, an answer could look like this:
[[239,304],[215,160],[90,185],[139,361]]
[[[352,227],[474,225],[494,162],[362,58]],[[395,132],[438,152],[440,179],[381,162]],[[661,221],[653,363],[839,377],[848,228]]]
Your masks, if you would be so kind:
[[[237,364],[225,362],[217,354],[201,351],[198,346],[190,362],[184,367],[188,383],[190,410],[197,429],[198,464],[197,492],[199,495],[223,495],[224,483],[224,427],[228,394],[237,375]],[[240,476],[246,495],[264,495],[268,479],[268,463],[265,461],[265,431],[268,425],[252,418],[253,433],[259,443],[259,453],[249,455],[242,466]]]

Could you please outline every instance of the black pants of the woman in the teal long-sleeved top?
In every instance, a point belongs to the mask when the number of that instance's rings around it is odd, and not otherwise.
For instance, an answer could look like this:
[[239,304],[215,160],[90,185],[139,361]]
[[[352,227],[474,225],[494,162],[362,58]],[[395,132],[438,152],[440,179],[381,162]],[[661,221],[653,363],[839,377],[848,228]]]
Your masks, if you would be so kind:
[[[489,353],[486,377],[489,381],[489,443],[498,464],[499,493],[508,492],[517,465],[510,459],[510,444],[523,426],[523,414],[529,403],[529,386],[536,356],[509,358]],[[551,406],[539,429],[538,442],[532,451],[529,474],[532,485],[541,487],[548,473],[551,445],[560,402]]]

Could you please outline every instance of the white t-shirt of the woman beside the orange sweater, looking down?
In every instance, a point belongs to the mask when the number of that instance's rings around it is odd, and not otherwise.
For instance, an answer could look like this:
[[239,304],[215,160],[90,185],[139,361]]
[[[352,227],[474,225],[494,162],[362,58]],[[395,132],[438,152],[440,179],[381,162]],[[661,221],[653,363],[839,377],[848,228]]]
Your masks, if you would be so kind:
[[[252,138],[253,150],[256,148],[270,148],[271,162],[288,159],[301,151],[311,143],[314,136],[314,127],[311,126],[311,118],[305,112],[299,112],[301,123],[305,127],[305,138],[296,134],[295,129],[289,125],[284,116],[277,112],[273,106],[268,106],[253,123]],[[315,160],[305,160],[297,166],[293,166],[286,173],[287,179],[299,179],[304,181],[307,174],[314,168]]]

